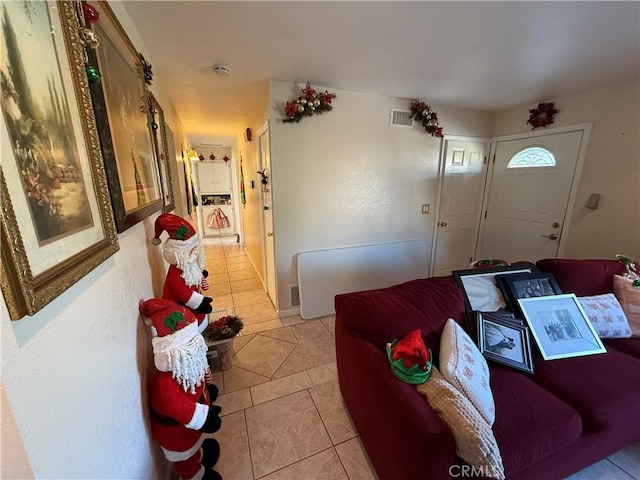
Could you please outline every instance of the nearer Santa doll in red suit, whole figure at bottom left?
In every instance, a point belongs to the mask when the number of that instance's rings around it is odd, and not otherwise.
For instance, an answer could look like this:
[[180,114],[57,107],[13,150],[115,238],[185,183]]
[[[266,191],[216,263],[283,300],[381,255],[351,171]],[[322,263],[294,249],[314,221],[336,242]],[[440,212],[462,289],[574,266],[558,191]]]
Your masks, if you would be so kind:
[[207,346],[186,307],[164,298],[140,304],[157,335],[152,339],[156,373],[151,382],[151,432],[183,480],[221,480],[213,466],[220,446],[205,433],[220,429],[220,407],[205,388]]

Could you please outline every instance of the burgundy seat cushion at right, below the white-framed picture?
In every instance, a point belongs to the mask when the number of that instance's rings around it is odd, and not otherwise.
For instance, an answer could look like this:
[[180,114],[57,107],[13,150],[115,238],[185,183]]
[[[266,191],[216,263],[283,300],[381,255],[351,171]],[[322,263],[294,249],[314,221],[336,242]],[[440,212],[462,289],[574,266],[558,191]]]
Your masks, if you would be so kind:
[[640,425],[640,360],[609,348],[599,355],[536,358],[534,368],[533,380],[580,414],[585,433]]

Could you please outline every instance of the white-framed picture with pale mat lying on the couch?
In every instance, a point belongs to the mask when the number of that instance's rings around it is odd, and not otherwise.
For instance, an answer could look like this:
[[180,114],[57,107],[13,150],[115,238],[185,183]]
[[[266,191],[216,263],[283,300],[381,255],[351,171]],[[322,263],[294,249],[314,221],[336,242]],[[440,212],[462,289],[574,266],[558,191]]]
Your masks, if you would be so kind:
[[575,294],[519,298],[518,304],[545,360],[606,353]]

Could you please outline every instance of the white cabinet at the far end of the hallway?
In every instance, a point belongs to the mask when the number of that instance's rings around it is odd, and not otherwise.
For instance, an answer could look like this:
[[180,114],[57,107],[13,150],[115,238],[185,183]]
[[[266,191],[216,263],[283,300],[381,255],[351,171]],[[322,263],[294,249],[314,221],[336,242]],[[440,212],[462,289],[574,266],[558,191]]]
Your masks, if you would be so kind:
[[202,237],[237,235],[231,162],[194,164],[198,190],[198,223]]

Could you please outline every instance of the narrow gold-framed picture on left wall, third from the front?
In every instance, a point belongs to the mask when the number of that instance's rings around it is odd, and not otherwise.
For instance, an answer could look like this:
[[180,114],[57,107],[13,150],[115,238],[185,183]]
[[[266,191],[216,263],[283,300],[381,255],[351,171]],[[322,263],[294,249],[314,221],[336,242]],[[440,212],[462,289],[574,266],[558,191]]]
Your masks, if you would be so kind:
[[[153,147],[156,152],[162,185],[163,211],[175,210],[173,198],[173,183],[169,162],[175,158],[175,143],[173,133],[164,120],[164,110],[152,93],[149,93],[149,111],[151,113],[151,129],[153,131]],[[171,134],[171,138],[169,138]],[[171,153],[173,151],[173,153]]]

